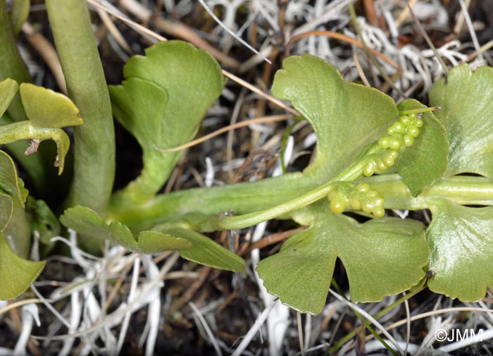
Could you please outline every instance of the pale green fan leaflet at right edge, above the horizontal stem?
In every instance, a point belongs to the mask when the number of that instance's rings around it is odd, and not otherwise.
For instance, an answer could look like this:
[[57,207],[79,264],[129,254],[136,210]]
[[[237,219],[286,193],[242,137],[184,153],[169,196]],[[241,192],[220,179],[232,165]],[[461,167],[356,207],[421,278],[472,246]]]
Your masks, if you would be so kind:
[[447,176],[478,173],[493,180],[493,68],[452,68],[430,91],[430,104],[449,135]]

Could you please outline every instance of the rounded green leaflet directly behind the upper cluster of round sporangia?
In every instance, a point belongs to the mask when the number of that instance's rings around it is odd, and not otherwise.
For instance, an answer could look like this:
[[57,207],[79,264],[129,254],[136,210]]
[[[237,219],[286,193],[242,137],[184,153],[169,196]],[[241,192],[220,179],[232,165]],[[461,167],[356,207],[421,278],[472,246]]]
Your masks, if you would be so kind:
[[[399,111],[423,109],[414,99],[399,104]],[[449,142],[447,131],[432,112],[423,113],[424,125],[412,147],[396,159],[394,170],[403,178],[411,194],[416,196],[444,176],[448,167]]]

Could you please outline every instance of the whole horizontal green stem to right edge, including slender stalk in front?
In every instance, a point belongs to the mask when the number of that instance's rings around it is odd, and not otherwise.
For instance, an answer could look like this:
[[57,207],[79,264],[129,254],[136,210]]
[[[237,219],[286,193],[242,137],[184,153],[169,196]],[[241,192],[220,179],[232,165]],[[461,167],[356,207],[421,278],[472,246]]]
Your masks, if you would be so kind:
[[[357,167],[353,168],[357,171]],[[350,173],[346,171],[339,178],[351,178]],[[482,177],[444,178],[425,190],[420,197],[413,197],[397,174],[361,180],[370,183],[385,198],[385,209],[428,209],[437,199],[449,199],[463,205],[493,205],[493,183]],[[158,195],[144,205],[129,207],[115,201],[106,218],[125,223],[135,231],[173,221],[187,221],[202,231],[234,229],[282,216],[322,199],[334,181],[320,185],[301,173],[288,173],[251,183],[193,188]],[[242,215],[218,216],[224,211]]]

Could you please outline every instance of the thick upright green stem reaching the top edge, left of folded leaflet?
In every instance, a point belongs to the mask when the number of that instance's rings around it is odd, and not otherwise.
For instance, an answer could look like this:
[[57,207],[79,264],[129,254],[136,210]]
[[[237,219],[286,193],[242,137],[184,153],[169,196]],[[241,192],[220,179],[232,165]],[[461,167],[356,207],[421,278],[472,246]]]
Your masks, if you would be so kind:
[[103,211],[115,176],[115,134],[103,67],[85,0],[46,0],[70,99],[84,124],[73,128],[74,179],[68,205]]

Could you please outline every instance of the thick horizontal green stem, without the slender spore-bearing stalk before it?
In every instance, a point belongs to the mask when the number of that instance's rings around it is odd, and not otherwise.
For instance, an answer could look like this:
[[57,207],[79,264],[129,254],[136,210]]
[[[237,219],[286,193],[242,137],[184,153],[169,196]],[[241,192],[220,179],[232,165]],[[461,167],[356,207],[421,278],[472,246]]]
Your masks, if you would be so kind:
[[248,214],[267,209],[318,185],[302,177],[301,173],[288,173],[256,182],[180,190],[158,195],[145,204],[127,204],[114,195],[106,219],[125,223],[135,231],[184,219],[200,228],[202,221],[220,212]]

